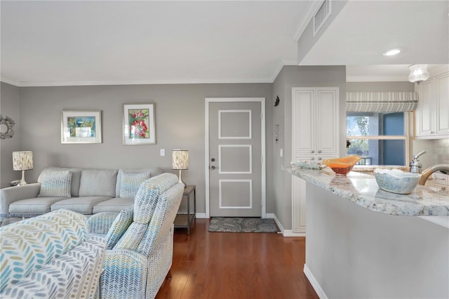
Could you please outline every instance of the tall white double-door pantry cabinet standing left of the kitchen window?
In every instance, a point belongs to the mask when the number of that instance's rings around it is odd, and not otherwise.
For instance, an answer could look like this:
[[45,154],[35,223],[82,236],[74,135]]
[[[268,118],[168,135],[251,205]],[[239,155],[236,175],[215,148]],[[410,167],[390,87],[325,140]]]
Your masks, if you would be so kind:
[[[292,89],[292,161],[339,157],[340,105],[337,87]],[[292,231],[306,232],[306,184],[292,176]]]

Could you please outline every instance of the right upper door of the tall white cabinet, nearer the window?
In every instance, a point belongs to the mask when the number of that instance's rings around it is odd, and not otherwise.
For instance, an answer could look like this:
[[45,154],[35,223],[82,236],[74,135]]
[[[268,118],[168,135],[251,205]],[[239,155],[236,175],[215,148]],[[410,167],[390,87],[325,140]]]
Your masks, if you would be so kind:
[[316,91],[316,154],[337,154],[339,132],[337,89]]

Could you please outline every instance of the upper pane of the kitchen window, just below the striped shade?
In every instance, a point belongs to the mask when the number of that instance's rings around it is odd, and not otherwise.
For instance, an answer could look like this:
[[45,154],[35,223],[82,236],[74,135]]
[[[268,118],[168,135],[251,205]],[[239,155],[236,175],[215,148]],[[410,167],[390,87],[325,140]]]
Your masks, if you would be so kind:
[[347,112],[346,135],[404,135],[403,112]]

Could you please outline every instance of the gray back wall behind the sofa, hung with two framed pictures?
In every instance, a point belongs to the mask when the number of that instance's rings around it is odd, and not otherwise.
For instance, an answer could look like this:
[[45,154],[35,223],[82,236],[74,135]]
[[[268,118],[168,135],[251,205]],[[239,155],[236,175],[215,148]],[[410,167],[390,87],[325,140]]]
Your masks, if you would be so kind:
[[[189,170],[182,178],[196,185],[196,211],[205,213],[204,173],[204,99],[250,97],[266,98],[271,103],[272,84],[168,84],[130,86],[64,86],[20,88],[20,149],[34,152],[34,170],[27,171],[27,181],[36,181],[48,166],[80,168],[141,168],[161,166],[171,169],[171,150],[189,150]],[[18,97],[13,102],[19,102]],[[156,145],[123,145],[123,103],[156,103]],[[18,106],[13,108],[18,115]],[[63,109],[102,110],[102,143],[62,145],[60,140]],[[267,105],[267,135],[272,134],[272,105]],[[12,115],[13,116],[13,115]],[[166,156],[160,157],[159,150]],[[271,148],[267,161],[272,161]],[[3,156],[11,160],[11,147],[1,145]],[[6,159],[6,158],[5,158]],[[6,159],[7,161],[7,159]],[[3,166],[2,166],[3,167]],[[268,175],[271,163],[267,165]],[[1,169],[2,176],[15,175],[11,166]],[[3,180],[3,178],[2,178]],[[8,181],[7,180],[7,181]],[[272,194],[267,180],[267,194]],[[267,213],[272,197],[267,196]]]

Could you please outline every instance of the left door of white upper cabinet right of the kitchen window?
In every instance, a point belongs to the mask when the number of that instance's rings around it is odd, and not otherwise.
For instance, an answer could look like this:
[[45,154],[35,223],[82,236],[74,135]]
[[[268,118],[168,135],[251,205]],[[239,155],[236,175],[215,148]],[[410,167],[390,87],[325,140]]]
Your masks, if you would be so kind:
[[415,111],[415,134],[425,136],[434,134],[434,80],[429,79],[418,86],[418,107]]

